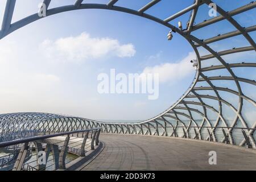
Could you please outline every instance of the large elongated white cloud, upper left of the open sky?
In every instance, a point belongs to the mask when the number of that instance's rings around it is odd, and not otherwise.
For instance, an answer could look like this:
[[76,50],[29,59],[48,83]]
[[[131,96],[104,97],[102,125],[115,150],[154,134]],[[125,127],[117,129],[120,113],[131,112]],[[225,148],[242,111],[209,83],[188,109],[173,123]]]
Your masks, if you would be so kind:
[[40,50],[48,59],[61,61],[82,61],[102,57],[132,57],[136,51],[133,44],[120,44],[116,39],[92,38],[86,32],[79,36],[44,40]]

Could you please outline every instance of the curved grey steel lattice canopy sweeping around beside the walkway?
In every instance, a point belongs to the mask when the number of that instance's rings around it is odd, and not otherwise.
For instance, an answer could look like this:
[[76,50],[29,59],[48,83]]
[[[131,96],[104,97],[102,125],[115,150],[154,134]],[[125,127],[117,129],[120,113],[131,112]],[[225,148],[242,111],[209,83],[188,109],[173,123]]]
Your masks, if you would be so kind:
[[[185,92],[183,96],[177,102],[175,102],[174,105],[172,105],[169,109],[167,109],[163,113],[160,113],[156,117],[139,123],[104,123],[93,121],[90,119],[64,117],[60,115],[44,113],[2,114],[0,115],[0,126],[2,129],[2,133],[20,129],[61,130],[64,128],[64,130],[71,130],[78,127],[84,128],[97,125],[102,127],[102,131],[105,133],[166,135],[187,138],[192,138],[191,135],[194,134],[196,135],[197,139],[207,139],[214,140],[216,142],[224,142],[224,140],[227,140],[227,138],[224,138],[225,136],[219,137],[220,135],[217,133],[218,128],[222,127],[222,129],[225,129],[226,135],[228,135],[230,143],[243,145],[245,142],[248,142],[248,138],[251,146],[255,148],[254,131],[256,129],[256,120],[251,122],[245,119],[243,103],[249,102],[251,104],[250,111],[254,111],[256,109],[256,102],[252,96],[245,95],[244,89],[241,86],[241,82],[244,82],[251,86],[255,86],[256,82],[255,80],[251,80],[246,77],[238,77],[236,73],[234,73],[233,69],[255,68],[256,61],[251,60],[250,63],[245,63],[241,60],[240,63],[229,64],[223,56],[232,55],[239,52],[256,51],[255,40],[249,35],[250,32],[256,31],[256,25],[250,27],[242,27],[241,24],[239,24],[233,18],[233,16],[235,15],[240,15],[244,12],[249,13],[249,10],[255,9],[256,2],[252,1],[248,5],[238,7],[237,9],[232,11],[225,11],[221,8],[221,5],[217,4],[217,12],[220,15],[205,20],[204,22],[195,24],[196,15],[198,11],[200,11],[200,7],[203,5],[208,6],[214,2],[210,0],[195,0],[191,6],[179,11],[174,15],[169,16],[166,19],[159,19],[156,16],[145,13],[147,10],[153,8],[160,1],[161,0],[152,0],[147,5],[141,7],[141,9],[139,10],[115,6],[118,0],[111,0],[106,5],[86,3],[86,1],[85,3],[83,3],[82,0],[76,0],[74,1],[73,5],[60,6],[53,9],[48,9],[51,0],[44,0],[43,3],[47,7],[47,16],[62,13],[65,11],[81,9],[105,9],[121,11],[123,13],[142,16],[144,18],[153,20],[154,22],[171,28],[172,31],[177,32],[185,39],[187,39],[196,53],[199,69],[197,70],[196,76],[187,92]],[[18,22],[11,23],[15,2],[15,0],[7,0],[6,2],[5,14],[3,16],[2,28],[0,31],[0,39],[9,35],[11,32],[18,30],[18,28],[26,26],[27,24],[35,22],[36,20],[42,18],[39,17],[37,13],[35,13],[19,20]],[[184,15],[189,11],[191,11],[191,16],[189,16],[189,22],[185,30],[180,30],[179,28],[175,27],[170,23],[172,20],[179,18],[181,15]],[[196,36],[192,35],[194,31],[201,30],[201,28],[216,24],[222,20],[226,20],[227,22],[229,22],[235,28],[235,31],[226,32],[225,34],[213,36],[212,38],[208,38],[205,40],[201,40]],[[232,48],[217,52],[209,46],[209,44],[211,43],[228,41],[229,38],[233,38],[239,35],[242,36],[243,39],[245,39],[248,43],[246,47]],[[200,55],[199,48],[206,49],[210,54]],[[255,54],[255,52],[253,53]],[[213,58],[218,60],[218,65],[212,65],[210,67],[203,67],[201,65],[203,61],[209,61]],[[220,76],[219,72],[223,69],[228,72],[229,76]],[[207,73],[209,73],[210,71],[214,71],[215,75],[208,77]],[[236,85],[236,89],[222,88],[214,83],[216,81],[233,82]],[[207,86],[200,86],[200,83],[206,84]],[[208,90],[211,90],[212,93],[208,94]],[[233,106],[228,100],[222,98],[221,92],[226,92],[229,93],[232,97],[237,97],[237,106]],[[189,101],[191,99],[193,99],[193,101]],[[212,103],[206,104],[205,99],[211,100]],[[218,108],[213,107],[214,101],[217,101]],[[222,107],[222,104],[225,104],[225,106],[227,106],[233,112],[234,118],[232,119],[232,121],[229,121],[230,119],[225,117],[225,111]],[[176,111],[177,109],[184,110],[184,112]],[[215,113],[217,116],[214,117],[214,119],[211,119],[210,112]],[[199,114],[201,118],[194,118],[193,114],[195,113]],[[79,126],[77,126],[76,122],[79,122]],[[236,134],[234,134],[233,132],[234,130],[237,130],[238,127],[236,127],[236,125],[238,125],[238,123],[241,123],[243,130],[246,131],[247,134],[247,138],[245,136],[245,138],[242,139],[242,142],[238,142],[238,140],[235,139]],[[120,129],[119,131],[118,128]],[[168,129],[170,129],[171,131],[168,131]],[[162,133],[159,133],[159,130],[162,130]],[[179,133],[180,131],[177,130],[181,130],[181,134]],[[205,134],[206,130],[208,131],[207,134]]]

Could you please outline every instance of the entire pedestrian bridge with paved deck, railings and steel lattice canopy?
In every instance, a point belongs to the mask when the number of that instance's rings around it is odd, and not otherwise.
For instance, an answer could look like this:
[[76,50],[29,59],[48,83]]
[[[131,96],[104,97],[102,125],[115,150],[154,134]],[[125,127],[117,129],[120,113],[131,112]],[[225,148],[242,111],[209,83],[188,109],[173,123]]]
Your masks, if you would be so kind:
[[[195,0],[166,19],[148,13],[160,0],[149,1],[139,10],[118,6],[118,0],[106,4],[76,0],[49,9],[52,1],[43,1],[40,12],[45,11],[44,16],[35,12],[12,22],[16,1],[7,0],[0,39],[66,11],[119,11],[168,27],[170,40],[174,34],[183,36],[196,53],[197,59],[192,60],[196,76],[170,108],[138,123],[107,123],[47,113],[1,114],[1,169],[256,169],[256,82],[255,74],[249,74],[255,73],[256,67],[256,25],[255,20],[248,26],[241,22],[242,16],[254,16],[255,1],[243,1],[243,5],[225,10],[223,1]],[[216,11],[216,16],[202,13],[205,8]],[[199,13],[205,18],[196,22]],[[173,23],[186,14],[186,27]],[[224,24],[231,26],[231,31],[222,32]],[[200,31],[214,26],[220,34],[200,37]],[[237,37],[243,43],[230,47],[230,40]],[[245,55],[254,59],[244,60]],[[217,153],[217,165],[209,164],[210,151]],[[46,163],[41,163],[39,154]]]

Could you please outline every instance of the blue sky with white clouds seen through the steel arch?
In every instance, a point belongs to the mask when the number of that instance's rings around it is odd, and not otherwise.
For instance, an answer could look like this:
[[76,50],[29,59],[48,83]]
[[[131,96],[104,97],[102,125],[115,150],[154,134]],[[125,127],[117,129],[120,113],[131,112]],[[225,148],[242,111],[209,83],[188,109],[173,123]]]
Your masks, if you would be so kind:
[[[231,1],[231,0],[230,0]],[[249,1],[222,3],[226,10]],[[17,0],[13,22],[38,11],[38,0]],[[73,0],[52,0],[49,9],[69,5]],[[86,3],[107,3],[88,0]],[[119,0],[116,5],[140,9],[149,0]],[[158,18],[168,16],[192,4],[190,1],[163,0],[146,13]],[[219,2],[219,1],[216,1]],[[232,1],[233,2],[233,1]],[[5,1],[0,2],[0,19]],[[208,14],[201,7],[196,23]],[[256,15],[255,10],[252,10]],[[178,20],[187,22],[188,14]],[[246,18],[245,18],[246,17]],[[255,24],[251,14],[237,16],[245,27]],[[208,18],[207,18],[208,19]],[[225,24],[225,25],[224,25]],[[223,26],[224,25],[224,26]],[[222,26],[221,30],[218,26]],[[232,31],[220,22],[193,34],[201,39]],[[189,43],[179,35],[167,40],[170,31],[151,20],[107,10],[77,10],[40,19],[0,40],[0,113],[36,111],[76,115],[90,119],[144,120],[168,109],[188,89],[195,76],[190,60],[196,59]],[[255,33],[250,34],[254,39]],[[217,51],[247,46],[240,36],[228,43],[212,44]],[[204,49],[200,53],[208,54]],[[251,60],[253,52],[227,57]],[[217,64],[210,60],[207,64]],[[255,61],[255,59],[254,59]],[[251,62],[251,61],[250,61]],[[159,73],[159,98],[147,94],[100,94],[100,73]],[[241,70],[237,74],[244,74]],[[253,78],[255,74],[246,73]]]

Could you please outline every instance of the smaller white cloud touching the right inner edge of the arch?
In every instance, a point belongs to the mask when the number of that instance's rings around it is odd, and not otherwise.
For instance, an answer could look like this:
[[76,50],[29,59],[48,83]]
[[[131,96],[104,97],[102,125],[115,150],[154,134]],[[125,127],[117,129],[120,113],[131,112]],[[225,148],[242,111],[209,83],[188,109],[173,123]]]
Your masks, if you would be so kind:
[[143,70],[144,74],[158,73],[160,82],[175,82],[195,72],[190,61],[196,59],[194,52],[190,52],[187,57],[179,63],[164,63],[154,67],[146,67]]

